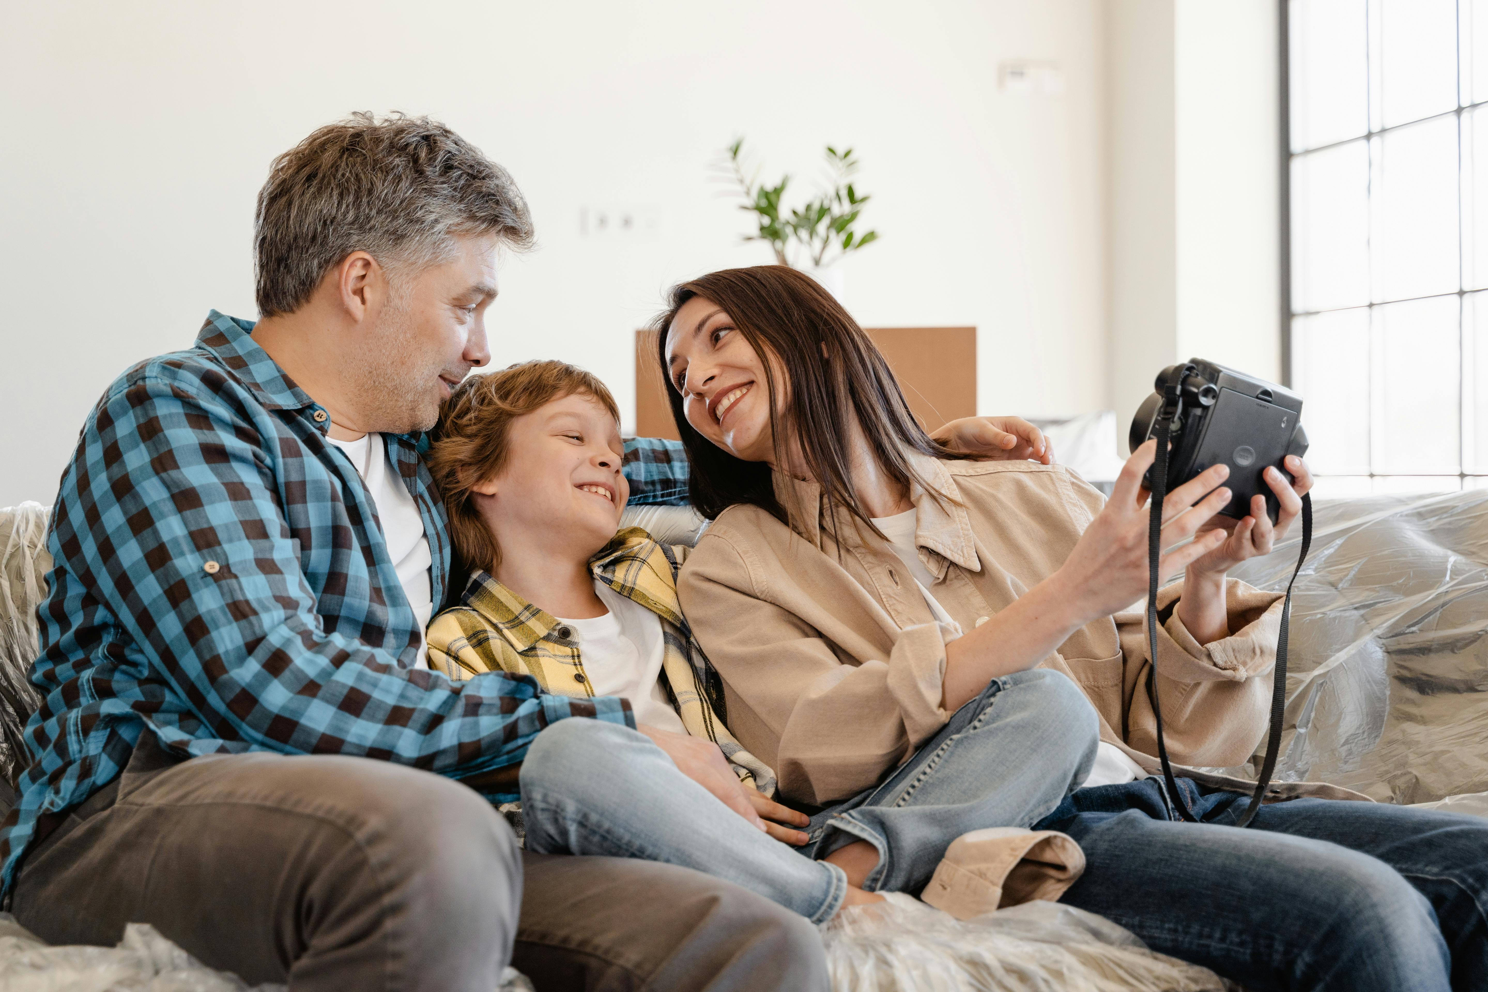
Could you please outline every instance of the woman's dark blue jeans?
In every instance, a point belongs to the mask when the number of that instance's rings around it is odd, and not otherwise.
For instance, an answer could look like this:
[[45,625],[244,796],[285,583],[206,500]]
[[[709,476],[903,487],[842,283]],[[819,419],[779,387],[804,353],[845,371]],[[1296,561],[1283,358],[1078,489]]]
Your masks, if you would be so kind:
[[1085,849],[1065,903],[1253,992],[1488,989],[1488,819],[1296,799],[1232,825],[1248,796],[1180,779],[1073,793],[1036,830]]

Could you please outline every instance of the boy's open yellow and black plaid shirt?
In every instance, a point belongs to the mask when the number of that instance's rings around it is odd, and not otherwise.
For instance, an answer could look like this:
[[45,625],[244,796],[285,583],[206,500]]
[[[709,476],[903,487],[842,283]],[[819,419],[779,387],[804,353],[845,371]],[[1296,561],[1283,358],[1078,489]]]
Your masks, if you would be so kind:
[[[723,723],[723,681],[708,662],[677,602],[684,546],[665,547],[638,526],[619,531],[594,558],[594,577],[661,619],[661,681],[695,738],[719,745],[740,779],[766,796],[775,772],[745,751]],[[592,696],[579,642],[568,628],[503,586],[491,574],[470,576],[460,605],[429,625],[429,666],[452,680],[503,671],[531,675],[543,692]]]

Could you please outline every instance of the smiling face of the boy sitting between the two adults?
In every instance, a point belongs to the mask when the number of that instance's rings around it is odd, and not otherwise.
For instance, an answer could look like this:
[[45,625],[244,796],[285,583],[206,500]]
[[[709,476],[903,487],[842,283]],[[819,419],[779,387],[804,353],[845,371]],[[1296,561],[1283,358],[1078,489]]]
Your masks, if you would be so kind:
[[507,431],[501,471],[472,486],[497,544],[540,541],[580,558],[604,547],[631,495],[620,427],[604,405],[574,393],[518,416]]

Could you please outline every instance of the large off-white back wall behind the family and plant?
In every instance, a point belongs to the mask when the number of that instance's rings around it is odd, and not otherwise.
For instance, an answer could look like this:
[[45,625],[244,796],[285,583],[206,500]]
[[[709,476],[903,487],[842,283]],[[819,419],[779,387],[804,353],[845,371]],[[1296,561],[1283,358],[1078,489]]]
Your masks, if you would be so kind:
[[[512,260],[497,358],[562,357],[631,405],[631,330],[668,284],[766,262],[708,180],[747,135],[802,183],[854,146],[882,241],[865,324],[976,324],[985,412],[1107,402],[1098,0],[7,4],[0,92],[0,506],[51,501],[128,364],[251,317],[269,159],[350,110],[430,113],[503,162],[542,248]],[[997,89],[1054,59],[1062,94]],[[653,238],[582,238],[583,207]],[[1146,375],[1150,375],[1147,372]]]

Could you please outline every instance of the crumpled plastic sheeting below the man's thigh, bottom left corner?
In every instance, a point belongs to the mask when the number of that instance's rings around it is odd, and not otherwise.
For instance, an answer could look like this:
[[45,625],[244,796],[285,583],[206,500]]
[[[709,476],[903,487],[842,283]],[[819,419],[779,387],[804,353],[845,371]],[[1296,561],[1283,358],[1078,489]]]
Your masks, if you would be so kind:
[[[251,992],[284,992],[257,985]],[[116,947],[48,947],[0,913],[0,989],[4,992],[247,992],[238,976],[213,971],[161,937],[149,924],[129,924]],[[493,992],[533,992],[515,968]]]

